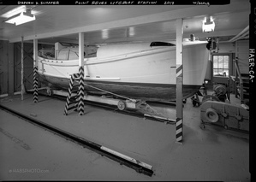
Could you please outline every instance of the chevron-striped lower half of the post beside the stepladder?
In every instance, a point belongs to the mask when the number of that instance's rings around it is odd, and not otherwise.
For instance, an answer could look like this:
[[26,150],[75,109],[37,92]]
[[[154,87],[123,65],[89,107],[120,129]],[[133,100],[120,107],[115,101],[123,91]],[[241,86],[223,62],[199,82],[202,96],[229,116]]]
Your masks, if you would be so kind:
[[78,96],[79,96],[79,103],[78,103],[78,112],[79,115],[84,114],[84,90],[85,90],[85,85],[84,85],[84,67],[79,68],[79,83],[78,83]]

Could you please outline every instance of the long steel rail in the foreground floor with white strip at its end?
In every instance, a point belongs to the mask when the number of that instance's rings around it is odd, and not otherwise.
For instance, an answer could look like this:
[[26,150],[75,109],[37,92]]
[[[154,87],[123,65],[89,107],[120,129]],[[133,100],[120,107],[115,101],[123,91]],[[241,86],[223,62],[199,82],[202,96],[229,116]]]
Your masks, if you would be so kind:
[[[67,140],[72,141],[75,144],[80,144],[84,148],[86,148],[88,150],[92,150],[101,156],[106,156],[113,161],[117,161],[121,165],[130,167],[130,168],[134,169],[137,173],[143,173],[143,174],[146,174],[147,176],[151,176],[151,177],[152,177],[152,174],[154,173],[152,170],[152,166],[147,165],[144,162],[135,160],[128,156],[124,156],[120,153],[119,153],[120,155],[116,156],[116,154],[113,153],[113,150],[110,150],[100,144],[96,144],[92,141],[86,140],[85,138],[80,138],[70,132],[66,132],[66,131],[61,130],[60,128],[55,127],[55,126],[48,125],[40,120],[36,120],[26,114],[21,114],[21,113],[15,111],[14,109],[9,109],[1,104],[0,104],[0,109],[7,111],[10,114],[14,114],[15,116],[18,116],[21,119],[26,120],[36,126],[40,126],[49,132],[53,132],[54,134],[57,134],[60,137],[66,138]],[[118,154],[118,152],[116,152],[116,153]],[[124,156],[124,157],[122,157],[122,156]],[[128,160],[129,158],[132,160]]]

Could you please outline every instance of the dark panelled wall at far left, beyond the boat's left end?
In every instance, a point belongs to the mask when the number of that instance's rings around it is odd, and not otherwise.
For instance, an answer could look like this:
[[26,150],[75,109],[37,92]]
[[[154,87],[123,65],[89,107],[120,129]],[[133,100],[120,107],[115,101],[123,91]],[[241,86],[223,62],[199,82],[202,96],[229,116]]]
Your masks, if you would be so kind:
[[[39,50],[54,45],[39,44]],[[23,44],[25,89],[33,89],[33,43]],[[0,96],[21,91],[21,43],[0,40]]]

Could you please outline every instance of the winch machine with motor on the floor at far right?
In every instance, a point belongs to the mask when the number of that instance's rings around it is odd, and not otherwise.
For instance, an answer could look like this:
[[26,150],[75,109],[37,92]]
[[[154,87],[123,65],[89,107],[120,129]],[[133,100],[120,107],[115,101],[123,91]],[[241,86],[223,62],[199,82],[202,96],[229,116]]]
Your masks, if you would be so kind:
[[213,94],[206,95],[201,103],[201,127],[222,126],[237,132],[249,132],[249,107],[245,104],[232,104],[225,85],[213,86]]

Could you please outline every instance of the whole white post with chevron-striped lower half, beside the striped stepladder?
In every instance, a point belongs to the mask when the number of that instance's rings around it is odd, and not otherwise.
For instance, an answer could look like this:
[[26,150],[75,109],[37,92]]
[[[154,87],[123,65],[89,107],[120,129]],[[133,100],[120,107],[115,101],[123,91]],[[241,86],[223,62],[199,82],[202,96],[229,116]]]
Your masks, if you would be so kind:
[[79,32],[79,115],[84,114],[84,33]]

